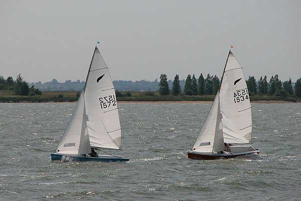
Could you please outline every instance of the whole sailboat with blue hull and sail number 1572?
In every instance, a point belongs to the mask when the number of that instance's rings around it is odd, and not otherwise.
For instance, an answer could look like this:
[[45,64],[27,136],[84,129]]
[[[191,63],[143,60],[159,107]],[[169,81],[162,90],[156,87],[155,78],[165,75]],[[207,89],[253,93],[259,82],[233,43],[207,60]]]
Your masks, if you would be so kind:
[[128,161],[95,150],[121,149],[121,128],[115,89],[97,46],[90,63],[86,84],[51,160]]

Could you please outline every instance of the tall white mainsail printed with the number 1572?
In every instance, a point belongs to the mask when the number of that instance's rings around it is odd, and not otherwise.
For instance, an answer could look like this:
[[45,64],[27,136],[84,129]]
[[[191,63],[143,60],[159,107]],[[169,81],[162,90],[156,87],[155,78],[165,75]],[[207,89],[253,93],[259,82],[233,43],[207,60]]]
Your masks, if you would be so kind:
[[85,103],[91,147],[120,149],[121,128],[115,89],[97,47],[87,76]]

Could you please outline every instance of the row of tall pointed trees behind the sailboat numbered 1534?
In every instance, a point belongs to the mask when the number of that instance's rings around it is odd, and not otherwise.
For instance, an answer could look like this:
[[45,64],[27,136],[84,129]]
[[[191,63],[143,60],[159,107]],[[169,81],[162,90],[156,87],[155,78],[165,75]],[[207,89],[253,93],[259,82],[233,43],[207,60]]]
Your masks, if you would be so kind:
[[[254,76],[249,76],[246,81],[249,94],[252,95],[270,95],[270,96],[296,96],[301,97],[301,78],[299,78],[294,88],[292,88],[291,80],[284,81],[279,80],[279,76],[276,74],[272,76],[267,82],[267,77],[262,76],[256,81]],[[173,88],[170,90],[168,85],[168,77],[166,74],[161,74],[159,82],[160,95],[178,96],[185,95],[215,95],[220,87],[220,79],[215,75],[207,74],[206,79],[203,74],[199,76],[197,80],[195,75],[187,75],[185,80],[185,86],[182,91],[180,86],[179,75],[177,74],[173,81]]]

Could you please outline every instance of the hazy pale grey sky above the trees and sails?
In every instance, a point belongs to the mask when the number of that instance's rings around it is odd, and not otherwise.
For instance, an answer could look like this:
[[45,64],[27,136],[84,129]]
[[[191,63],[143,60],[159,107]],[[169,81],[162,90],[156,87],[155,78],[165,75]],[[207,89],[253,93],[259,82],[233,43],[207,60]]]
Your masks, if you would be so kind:
[[301,1],[3,1],[0,75],[85,80],[96,42],[113,80],[301,77]]

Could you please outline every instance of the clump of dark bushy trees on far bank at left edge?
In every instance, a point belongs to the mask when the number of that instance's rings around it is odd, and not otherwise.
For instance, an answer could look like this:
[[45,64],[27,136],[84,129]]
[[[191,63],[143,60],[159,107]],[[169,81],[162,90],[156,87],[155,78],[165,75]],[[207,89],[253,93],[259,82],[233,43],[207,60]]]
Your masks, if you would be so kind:
[[0,75],[0,90],[14,91],[16,95],[22,96],[34,96],[42,94],[42,92],[39,89],[36,89],[34,86],[29,87],[28,84],[23,80],[21,74],[17,76],[16,81],[14,81],[13,77],[11,76],[5,79]]

